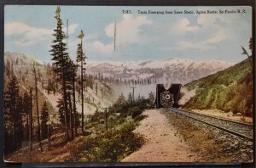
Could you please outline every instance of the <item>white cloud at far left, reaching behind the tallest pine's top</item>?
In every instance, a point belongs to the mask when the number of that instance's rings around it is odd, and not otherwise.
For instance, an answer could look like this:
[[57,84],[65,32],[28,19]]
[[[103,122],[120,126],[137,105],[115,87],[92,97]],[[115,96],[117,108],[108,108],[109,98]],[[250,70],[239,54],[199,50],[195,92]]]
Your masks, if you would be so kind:
[[[73,24],[68,27],[69,33],[72,34],[79,25]],[[54,29],[45,29],[41,27],[32,27],[22,22],[11,22],[4,25],[4,33],[6,36],[20,35],[15,39],[17,46],[30,46],[38,42],[44,42],[46,38],[50,38],[54,33]],[[63,30],[66,30],[65,28]]]

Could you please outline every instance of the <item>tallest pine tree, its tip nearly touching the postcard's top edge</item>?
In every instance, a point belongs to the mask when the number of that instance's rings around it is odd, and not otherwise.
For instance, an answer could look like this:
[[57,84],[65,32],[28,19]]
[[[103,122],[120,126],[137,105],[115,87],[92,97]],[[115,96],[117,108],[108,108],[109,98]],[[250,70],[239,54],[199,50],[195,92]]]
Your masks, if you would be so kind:
[[65,119],[65,132],[66,138],[65,141],[68,140],[68,126],[67,126],[67,81],[65,76],[68,75],[68,61],[69,56],[67,54],[66,43],[64,42],[65,33],[62,31],[63,24],[61,20],[61,8],[58,6],[55,12],[55,19],[57,20],[57,27],[55,31],[55,40],[53,41],[53,45],[51,45],[50,53],[53,56],[52,60],[54,61],[53,67],[54,72],[57,75],[58,81],[61,81],[61,93],[63,98],[63,105],[64,105],[64,119]]

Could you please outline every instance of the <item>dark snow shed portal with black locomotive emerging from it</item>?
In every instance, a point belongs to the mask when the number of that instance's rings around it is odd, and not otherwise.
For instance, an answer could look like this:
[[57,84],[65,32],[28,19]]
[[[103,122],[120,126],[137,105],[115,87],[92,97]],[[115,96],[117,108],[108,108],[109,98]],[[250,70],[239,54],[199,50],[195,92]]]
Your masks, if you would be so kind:
[[156,109],[171,107],[178,108],[179,105],[177,102],[179,99],[181,87],[181,84],[172,84],[171,87],[166,89],[164,84],[157,84],[156,97],[154,100],[154,106]]

